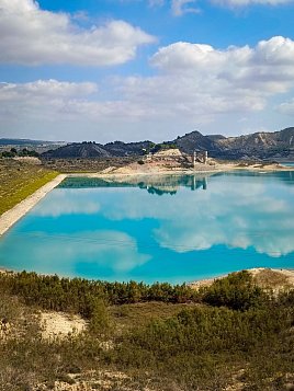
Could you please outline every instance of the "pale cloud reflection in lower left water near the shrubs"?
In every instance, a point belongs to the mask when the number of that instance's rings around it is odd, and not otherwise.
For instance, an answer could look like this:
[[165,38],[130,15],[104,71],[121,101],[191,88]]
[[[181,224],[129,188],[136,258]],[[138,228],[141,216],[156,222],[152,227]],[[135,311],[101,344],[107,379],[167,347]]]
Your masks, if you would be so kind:
[[[22,262],[31,269],[38,269],[42,264],[46,273],[65,271],[65,275],[75,275],[76,267],[90,266],[94,273],[111,268],[116,274],[124,274],[143,265],[150,256],[139,254],[136,240],[120,231],[83,231],[78,233],[31,232],[18,238],[13,246],[13,237],[1,243],[10,251],[11,260],[19,260],[22,249]],[[82,261],[81,261],[82,260]]]

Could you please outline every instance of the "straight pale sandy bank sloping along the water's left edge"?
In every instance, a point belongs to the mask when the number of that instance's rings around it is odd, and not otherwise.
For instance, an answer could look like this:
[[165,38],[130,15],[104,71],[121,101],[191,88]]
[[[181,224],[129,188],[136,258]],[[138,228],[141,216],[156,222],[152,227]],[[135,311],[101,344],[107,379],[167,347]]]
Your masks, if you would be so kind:
[[66,176],[67,175],[64,174],[56,176],[53,181],[46,183],[34,194],[15,205],[12,209],[3,212],[3,215],[0,216],[0,235],[7,232],[21,217],[31,210],[42,198],[44,198],[47,193],[59,185]]

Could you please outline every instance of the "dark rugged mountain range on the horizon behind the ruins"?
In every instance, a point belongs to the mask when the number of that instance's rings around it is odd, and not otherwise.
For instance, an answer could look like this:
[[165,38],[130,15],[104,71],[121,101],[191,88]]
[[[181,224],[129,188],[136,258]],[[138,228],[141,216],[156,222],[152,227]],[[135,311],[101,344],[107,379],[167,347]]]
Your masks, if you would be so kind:
[[[156,147],[155,147],[156,146]],[[143,156],[147,151],[179,148],[182,152],[194,150],[208,151],[208,156],[218,159],[294,159],[294,127],[274,133],[256,133],[238,137],[222,135],[204,136],[194,130],[179,136],[171,141],[155,145],[151,141],[140,142],[75,142],[54,151],[43,153],[44,158],[105,158]]]

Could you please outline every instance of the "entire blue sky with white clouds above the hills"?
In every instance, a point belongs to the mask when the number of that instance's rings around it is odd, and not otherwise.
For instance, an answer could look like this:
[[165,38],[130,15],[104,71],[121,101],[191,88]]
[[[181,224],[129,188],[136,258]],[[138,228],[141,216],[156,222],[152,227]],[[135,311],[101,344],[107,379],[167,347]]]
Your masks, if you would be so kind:
[[294,0],[0,0],[0,137],[294,126]]

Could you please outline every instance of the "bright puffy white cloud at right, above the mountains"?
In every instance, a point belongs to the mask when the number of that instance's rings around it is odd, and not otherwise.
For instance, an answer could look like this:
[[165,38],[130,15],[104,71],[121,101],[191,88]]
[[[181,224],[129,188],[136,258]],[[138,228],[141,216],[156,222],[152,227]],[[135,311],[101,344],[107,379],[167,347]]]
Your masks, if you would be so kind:
[[225,50],[179,42],[160,48],[151,64],[168,73],[197,72],[242,89],[284,92],[293,85],[294,42],[274,36],[255,48],[230,46]]

